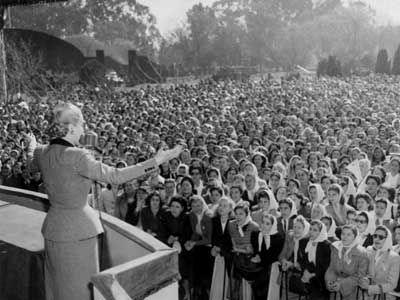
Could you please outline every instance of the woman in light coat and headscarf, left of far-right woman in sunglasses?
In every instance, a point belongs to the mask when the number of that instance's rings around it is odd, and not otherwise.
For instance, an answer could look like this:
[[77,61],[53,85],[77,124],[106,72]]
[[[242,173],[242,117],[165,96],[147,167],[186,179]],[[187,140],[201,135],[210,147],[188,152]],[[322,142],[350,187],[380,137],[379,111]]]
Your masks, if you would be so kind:
[[341,240],[334,242],[331,249],[331,261],[325,273],[326,287],[330,292],[339,293],[343,300],[357,299],[359,279],[365,277],[368,270],[366,250],[359,246],[357,228],[344,225]]

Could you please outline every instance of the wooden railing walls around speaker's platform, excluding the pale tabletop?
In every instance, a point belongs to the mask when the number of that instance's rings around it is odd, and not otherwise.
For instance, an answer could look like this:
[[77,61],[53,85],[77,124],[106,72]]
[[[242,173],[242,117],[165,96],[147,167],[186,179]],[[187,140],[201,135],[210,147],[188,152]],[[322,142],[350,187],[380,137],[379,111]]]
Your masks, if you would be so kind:
[[[44,194],[1,185],[0,200],[43,212],[49,208]],[[113,216],[99,217],[105,233],[100,242],[102,271],[92,277],[96,299],[146,299],[165,288],[177,295],[177,251]]]

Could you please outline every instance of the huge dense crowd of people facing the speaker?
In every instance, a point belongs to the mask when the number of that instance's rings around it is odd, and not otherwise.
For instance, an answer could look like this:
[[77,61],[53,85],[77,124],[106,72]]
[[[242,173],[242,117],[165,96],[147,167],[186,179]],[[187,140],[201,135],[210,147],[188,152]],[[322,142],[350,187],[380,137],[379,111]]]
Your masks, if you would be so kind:
[[[56,100],[1,109],[2,185],[46,191],[26,168],[26,134],[49,141]],[[398,78],[74,87],[62,100],[80,106],[95,156],[116,168],[184,145],[89,199],[178,250],[180,299],[267,299],[275,262],[282,285],[309,299],[395,299]]]

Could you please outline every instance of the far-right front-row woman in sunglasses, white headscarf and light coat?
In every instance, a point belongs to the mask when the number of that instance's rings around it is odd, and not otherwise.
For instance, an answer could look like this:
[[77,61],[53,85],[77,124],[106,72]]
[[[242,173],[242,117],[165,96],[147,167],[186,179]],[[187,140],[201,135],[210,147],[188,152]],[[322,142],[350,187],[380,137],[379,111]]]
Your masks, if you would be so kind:
[[368,276],[360,280],[360,287],[370,299],[382,295],[386,300],[395,300],[390,292],[397,287],[400,272],[400,257],[392,250],[392,234],[385,226],[378,226],[373,235],[374,243],[367,248],[369,258]]

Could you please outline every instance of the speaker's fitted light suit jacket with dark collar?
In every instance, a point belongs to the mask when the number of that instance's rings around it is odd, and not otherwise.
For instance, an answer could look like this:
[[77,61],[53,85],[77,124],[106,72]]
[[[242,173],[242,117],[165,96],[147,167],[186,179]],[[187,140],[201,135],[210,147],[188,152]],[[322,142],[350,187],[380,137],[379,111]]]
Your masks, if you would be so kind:
[[45,239],[78,241],[103,232],[98,213],[87,203],[92,180],[122,184],[155,169],[155,160],[145,164],[116,169],[84,149],[59,144],[36,148],[31,171],[42,173],[50,201],[42,227]]

